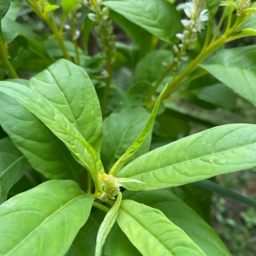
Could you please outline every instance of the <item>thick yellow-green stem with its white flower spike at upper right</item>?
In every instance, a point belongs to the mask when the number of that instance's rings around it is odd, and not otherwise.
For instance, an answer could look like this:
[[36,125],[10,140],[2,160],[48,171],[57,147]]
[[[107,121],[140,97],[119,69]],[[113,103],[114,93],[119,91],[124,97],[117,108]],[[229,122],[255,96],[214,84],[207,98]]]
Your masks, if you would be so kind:
[[[185,56],[185,53],[182,53],[183,51],[185,52],[186,50],[189,50],[189,45],[193,42],[193,38],[196,36],[194,32],[201,32],[201,29],[204,29],[204,21],[208,20],[206,17],[207,12],[202,9],[203,8],[203,0],[193,0],[193,2],[190,2],[187,4],[185,13],[187,17],[190,18],[190,20],[183,20],[183,26],[185,26],[185,30],[183,34],[177,34],[177,38],[181,40],[181,44],[179,47],[174,46],[174,50],[178,56]],[[228,4],[227,4],[228,5]],[[240,7],[239,7],[240,6]],[[250,9],[250,1],[248,0],[240,0],[238,5],[235,6],[227,6],[228,7],[228,17],[227,17],[227,26],[225,29],[225,32],[223,35],[221,35],[219,38],[215,39],[217,37],[217,34],[215,34],[212,38],[212,41],[209,43],[209,45],[205,44],[199,55],[176,77],[172,79],[172,81],[169,83],[167,90],[163,94],[162,100],[166,99],[169,94],[175,92],[178,88],[180,88],[181,85],[183,85],[183,79],[186,78],[190,73],[192,73],[196,68],[199,63],[204,61],[217,47],[219,47],[221,44],[225,44],[230,40],[230,37],[232,38],[232,34],[237,31],[239,26],[241,26],[241,23],[244,22],[244,20],[248,17],[247,10],[249,11]],[[231,26],[232,24],[232,15],[233,15],[233,8],[237,9],[237,19],[236,22]],[[195,12],[195,9],[199,8],[198,10],[201,10],[200,12]],[[223,23],[224,20],[224,15],[226,13],[226,9],[224,10],[224,14],[221,17],[221,23]],[[242,15],[241,15],[242,14]],[[250,16],[250,15],[249,15]],[[198,22],[195,21],[195,18],[198,19]],[[190,30],[189,30],[190,29]],[[220,27],[218,27],[220,29]],[[190,31],[190,33],[189,33]],[[191,35],[191,41],[186,41],[187,38]],[[196,40],[196,39],[195,39]],[[209,42],[209,38],[207,38],[207,41]],[[183,43],[185,42],[185,44]],[[176,62],[179,60],[176,55]],[[166,70],[165,74],[160,77],[161,81],[171,72],[172,70],[176,72],[176,70],[173,69],[173,63],[170,65],[172,69]],[[169,72],[168,72],[169,71]],[[168,72],[168,73],[167,73]],[[161,83],[160,80],[157,81],[157,84],[160,85]],[[157,85],[156,84],[156,85]],[[158,86],[154,86],[151,93],[150,97],[154,94]],[[155,100],[150,102],[147,107],[151,108],[155,103]]]

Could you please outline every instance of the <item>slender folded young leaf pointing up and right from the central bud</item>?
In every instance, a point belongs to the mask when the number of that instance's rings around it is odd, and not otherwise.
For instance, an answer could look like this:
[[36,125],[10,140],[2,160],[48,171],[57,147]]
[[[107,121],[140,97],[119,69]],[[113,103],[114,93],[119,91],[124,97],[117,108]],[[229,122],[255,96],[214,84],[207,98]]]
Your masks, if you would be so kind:
[[146,122],[143,130],[140,132],[140,135],[137,137],[137,139],[132,143],[132,145],[125,151],[124,154],[116,161],[116,163],[111,168],[109,174],[116,174],[122,166],[127,162],[127,160],[140,148],[146,137],[148,136],[149,132],[151,131],[151,128],[154,124],[154,119],[157,115],[157,111],[163,96],[163,93],[166,91],[166,87],[163,89],[162,93],[157,98],[157,102],[154,105],[154,108],[151,112],[151,115],[148,118],[148,121]]

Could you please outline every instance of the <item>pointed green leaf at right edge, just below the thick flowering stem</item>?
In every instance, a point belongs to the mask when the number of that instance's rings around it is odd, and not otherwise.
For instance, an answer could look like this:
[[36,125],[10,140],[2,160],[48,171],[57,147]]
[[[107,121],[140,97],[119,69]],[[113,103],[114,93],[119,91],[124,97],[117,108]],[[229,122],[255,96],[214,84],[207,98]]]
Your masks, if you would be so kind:
[[256,107],[256,46],[218,52],[200,67]]

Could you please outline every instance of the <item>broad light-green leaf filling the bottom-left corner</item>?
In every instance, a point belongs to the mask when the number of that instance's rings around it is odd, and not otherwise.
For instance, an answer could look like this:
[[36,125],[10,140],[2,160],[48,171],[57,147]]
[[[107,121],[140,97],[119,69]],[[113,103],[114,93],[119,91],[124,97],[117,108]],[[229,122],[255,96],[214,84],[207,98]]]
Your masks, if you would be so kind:
[[93,204],[71,180],[50,180],[0,206],[0,254],[64,255]]

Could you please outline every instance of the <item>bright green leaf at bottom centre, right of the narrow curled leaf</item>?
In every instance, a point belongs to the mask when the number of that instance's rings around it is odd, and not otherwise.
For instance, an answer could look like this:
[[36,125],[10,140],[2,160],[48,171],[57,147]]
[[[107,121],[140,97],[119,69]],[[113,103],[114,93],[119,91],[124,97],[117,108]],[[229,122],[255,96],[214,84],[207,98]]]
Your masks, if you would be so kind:
[[117,223],[143,255],[206,255],[158,209],[123,200]]

